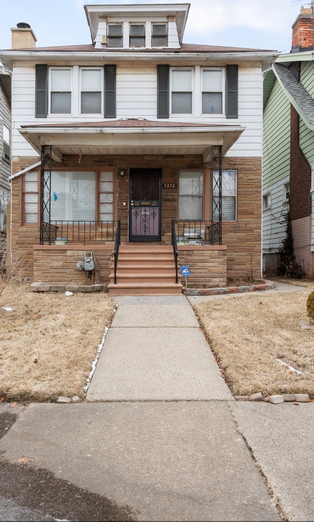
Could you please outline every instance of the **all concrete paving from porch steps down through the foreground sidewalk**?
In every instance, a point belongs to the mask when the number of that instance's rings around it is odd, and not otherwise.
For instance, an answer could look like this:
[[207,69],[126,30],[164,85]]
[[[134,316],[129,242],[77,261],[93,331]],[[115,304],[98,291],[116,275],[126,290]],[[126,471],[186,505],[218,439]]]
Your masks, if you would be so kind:
[[[59,519],[280,520],[266,477],[284,511],[312,520],[313,403],[236,402],[185,296],[115,300],[89,402],[32,404],[0,441],[2,464],[34,459],[17,491],[40,470],[65,484],[38,501]],[[62,511],[68,487],[92,511]]]

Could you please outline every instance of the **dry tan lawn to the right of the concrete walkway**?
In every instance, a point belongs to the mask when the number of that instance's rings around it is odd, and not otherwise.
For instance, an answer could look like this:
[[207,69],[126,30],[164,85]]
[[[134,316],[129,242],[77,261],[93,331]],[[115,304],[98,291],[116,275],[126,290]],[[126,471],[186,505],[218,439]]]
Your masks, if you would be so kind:
[[308,393],[314,398],[314,330],[299,326],[309,324],[306,300],[313,286],[193,302],[234,395]]

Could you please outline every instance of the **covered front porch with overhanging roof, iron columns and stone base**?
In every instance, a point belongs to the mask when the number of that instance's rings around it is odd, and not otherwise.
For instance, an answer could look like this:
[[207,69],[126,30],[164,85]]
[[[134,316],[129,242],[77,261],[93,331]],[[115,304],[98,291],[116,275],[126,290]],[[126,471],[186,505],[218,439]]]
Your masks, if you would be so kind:
[[[139,256],[145,249],[155,248],[151,271],[156,280],[161,266],[158,247],[170,247],[174,284],[184,282],[180,274],[177,278],[178,271],[182,264],[189,264],[190,283],[224,286],[227,247],[222,237],[222,157],[243,130],[235,125],[146,120],[22,127],[21,134],[41,155],[40,234],[39,244],[33,247],[34,280],[84,281],[86,274],[80,274],[76,265],[86,251],[94,253],[97,279],[105,286],[109,282],[109,288],[119,285],[119,278],[120,282],[123,278],[133,280],[134,272],[121,270],[121,249],[128,246]],[[180,216],[179,170],[206,171],[207,208],[197,216],[201,219],[185,219],[184,212],[182,219],[182,211]],[[61,172],[62,179],[71,173],[72,206],[73,198],[80,199],[77,192],[81,180],[90,172],[95,173],[96,197],[87,198],[81,207],[77,205],[71,215],[66,211],[70,207],[67,194],[65,211],[58,215],[56,201],[59,204],[61,197],[55,190],[55,172]],[[76,172],[80,175],[73,175]],[[196,202],[197,196],[196,189]],[[87,206],[90,215],[86,215]],[[80,211],[82,216],[78,215]],[[141,263],[135,271],[141,266],[144,275],[147,270]]]

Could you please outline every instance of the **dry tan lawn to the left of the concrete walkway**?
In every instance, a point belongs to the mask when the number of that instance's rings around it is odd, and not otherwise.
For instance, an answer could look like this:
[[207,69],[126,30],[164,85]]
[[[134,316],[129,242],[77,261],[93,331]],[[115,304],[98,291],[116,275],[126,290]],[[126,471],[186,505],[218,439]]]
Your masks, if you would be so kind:
[[[17,291],[11,284],[3,296],[9,301]],[[77,394],[112,317],[108,294],[27,291],[8,306],[14,310],[0,308],[0,396],[45,401]]]

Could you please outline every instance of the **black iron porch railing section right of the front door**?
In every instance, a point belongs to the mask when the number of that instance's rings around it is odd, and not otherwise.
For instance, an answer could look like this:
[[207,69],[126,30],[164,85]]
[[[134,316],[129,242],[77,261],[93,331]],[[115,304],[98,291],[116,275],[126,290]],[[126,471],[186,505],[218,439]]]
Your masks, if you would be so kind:
[[177,221],[173,226],[179,244],[221,245],[220,221]]

